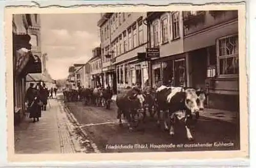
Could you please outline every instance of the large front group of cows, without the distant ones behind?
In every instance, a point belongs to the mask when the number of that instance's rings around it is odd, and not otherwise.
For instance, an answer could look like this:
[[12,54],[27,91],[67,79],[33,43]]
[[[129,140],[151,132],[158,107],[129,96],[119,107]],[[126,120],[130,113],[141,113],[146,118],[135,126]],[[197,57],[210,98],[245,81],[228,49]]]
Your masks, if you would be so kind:
[[[204,110],[206,94],[202,89],[167,87],[145,87],[143,90],[127,88],[117,95],[119,123],[121,115],[126,119],[129,130],[143,121],[146,113],[152,117],[157,113],[157,124],[164,124],[164,129],[170,135],[175,134],[175,121],[181,121],[186,129],[188,140],[193,140],[191,125],[199,118],[199,112]],[[194,116],[194,117],[193,117]],[[169,126],[168,126],[169,125]]]

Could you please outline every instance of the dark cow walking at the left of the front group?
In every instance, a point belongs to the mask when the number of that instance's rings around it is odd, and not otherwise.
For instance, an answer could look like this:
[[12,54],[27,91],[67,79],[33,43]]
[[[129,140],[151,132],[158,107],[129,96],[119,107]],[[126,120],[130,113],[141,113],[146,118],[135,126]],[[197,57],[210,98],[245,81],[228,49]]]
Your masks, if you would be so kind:
[[129,130],[132,131],[132,122],[139,123],[140,114],[143,114],[143,103],[144,97],[141,90],[137,88],[126,88],[123,92],[117,94],[116,105],[117,105],[117,118],[119,124],[122,125],[121,116],[127,121]]

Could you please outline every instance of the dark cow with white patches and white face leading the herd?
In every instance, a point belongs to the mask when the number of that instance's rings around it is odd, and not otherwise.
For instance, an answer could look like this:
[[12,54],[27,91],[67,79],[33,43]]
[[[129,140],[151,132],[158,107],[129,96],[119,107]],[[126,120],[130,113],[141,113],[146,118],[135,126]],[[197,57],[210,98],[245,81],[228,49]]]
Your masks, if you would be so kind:
[[[204,108],[205,93],[195,88],[167,87],[160,86],[156,89],[156,101],[158,104],[158,124],[160,124],[160,114],[163,112],[164,127],[169,129],[169,134],[174,135],[175,119],[184,122],[187,138],[193,140],[190,126],[193,122],[193,115],[199,117],[199,111]],[[169,121],[170,128],[168,128]]]

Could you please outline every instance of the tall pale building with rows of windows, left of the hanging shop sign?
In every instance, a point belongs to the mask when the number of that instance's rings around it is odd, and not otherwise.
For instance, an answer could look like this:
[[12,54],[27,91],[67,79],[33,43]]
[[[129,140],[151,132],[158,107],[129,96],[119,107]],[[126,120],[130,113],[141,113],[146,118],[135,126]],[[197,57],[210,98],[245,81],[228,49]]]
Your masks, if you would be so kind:
[[114,90],[136,83],[143,87],[148,81],[147,62],[138,59],[147,44],[144,18],[146,13],[104,13],[98,22],[103,69],[115,68],[111,80],[106,79]]

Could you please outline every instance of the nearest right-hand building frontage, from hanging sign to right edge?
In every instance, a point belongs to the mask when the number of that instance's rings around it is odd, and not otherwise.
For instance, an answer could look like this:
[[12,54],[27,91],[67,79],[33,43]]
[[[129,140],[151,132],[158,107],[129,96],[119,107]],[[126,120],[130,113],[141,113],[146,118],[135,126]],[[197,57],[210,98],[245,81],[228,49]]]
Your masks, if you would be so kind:
[[153,83],[205,88],[209,108],[239,110],[238,11],[149,12],[146,20],[160,48]]

